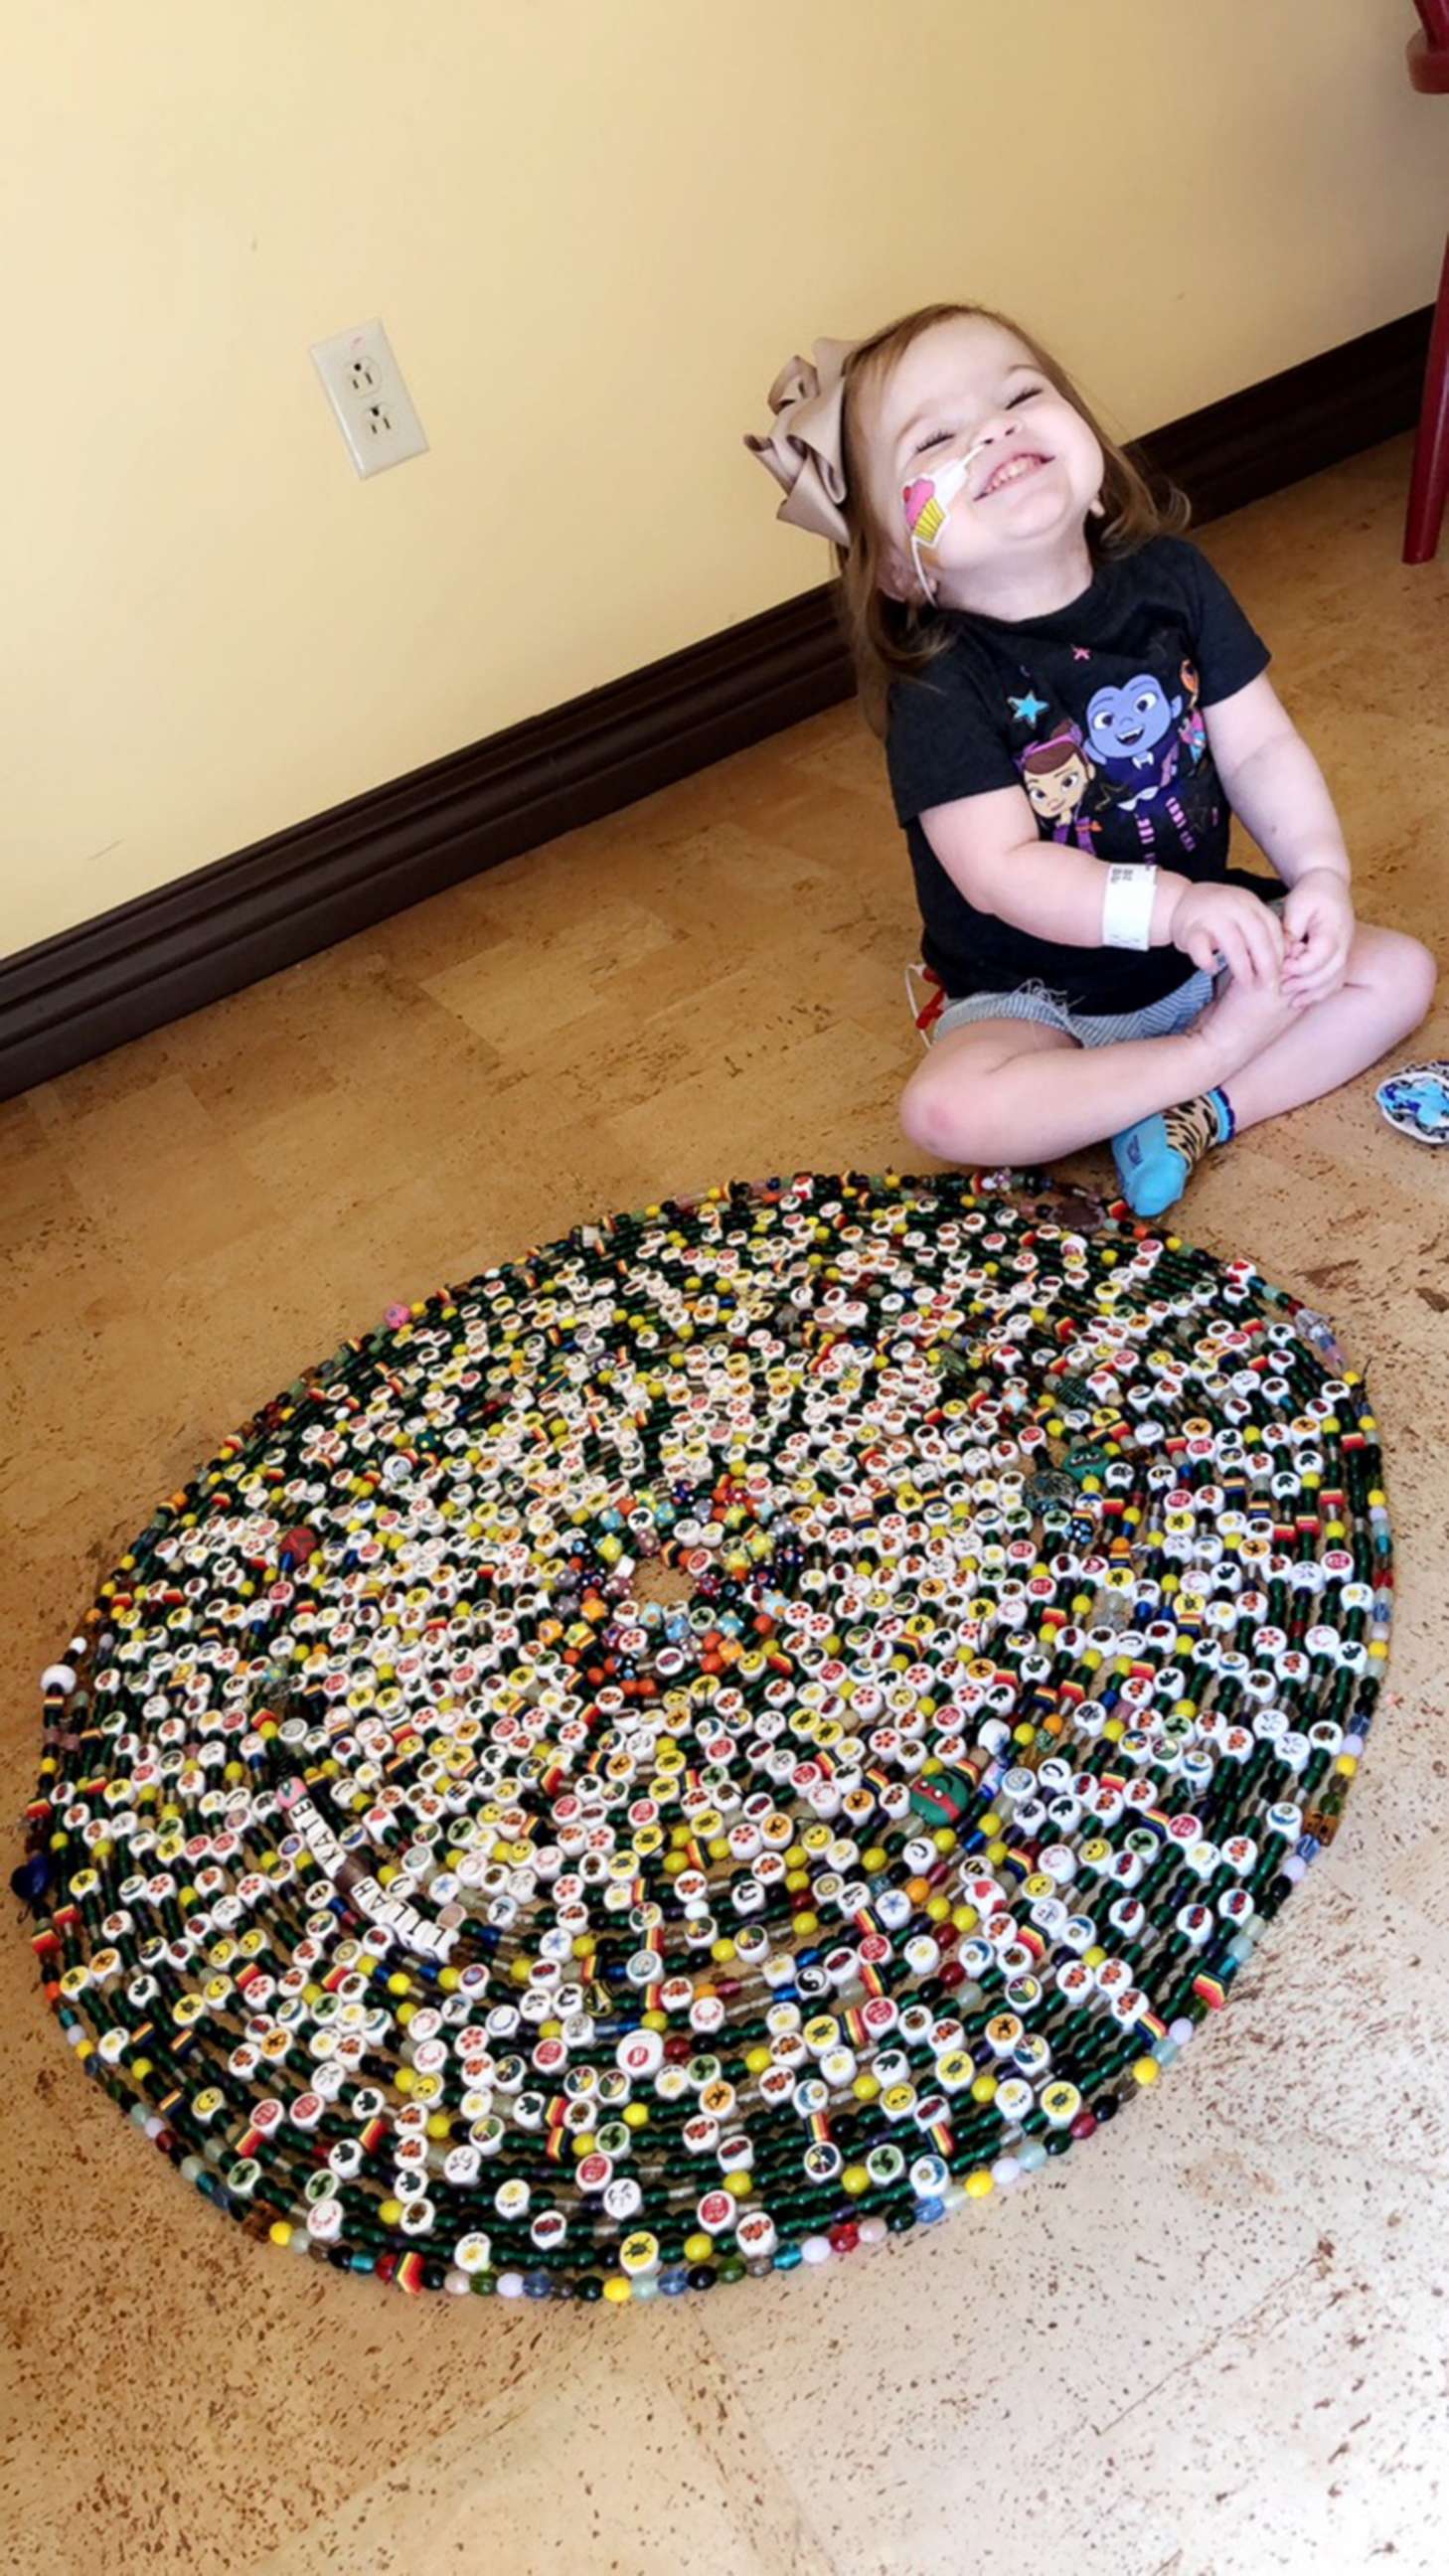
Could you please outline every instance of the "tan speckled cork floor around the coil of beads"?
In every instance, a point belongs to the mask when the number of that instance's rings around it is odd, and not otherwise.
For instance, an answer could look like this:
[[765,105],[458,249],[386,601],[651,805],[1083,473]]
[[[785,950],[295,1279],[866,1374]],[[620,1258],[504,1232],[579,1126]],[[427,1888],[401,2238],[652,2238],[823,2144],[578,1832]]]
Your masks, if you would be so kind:
[[[1397,440],[1207,546],[1320,750],[1361,909],[1434,940],[1449,559],[1400,567],[1405,474]],[[0,1110],[3,1814],[39,1667],[297,1365],[585,1213],[890,1164],[910,922],[879,755],[835,711]],[[1449,1048],[1449,1005],[1421,1046]],[[1449,1157],[1356,1082],[1217,1157],[1186,1229],[1369,1365],[1403,1584],[1348,1826],[1222,2025],[1091,2154],[869,2259],[639,2311],[407,2300],[186,2190],[70,2066],[10,1911],[0,2558],[1444,2566]]]

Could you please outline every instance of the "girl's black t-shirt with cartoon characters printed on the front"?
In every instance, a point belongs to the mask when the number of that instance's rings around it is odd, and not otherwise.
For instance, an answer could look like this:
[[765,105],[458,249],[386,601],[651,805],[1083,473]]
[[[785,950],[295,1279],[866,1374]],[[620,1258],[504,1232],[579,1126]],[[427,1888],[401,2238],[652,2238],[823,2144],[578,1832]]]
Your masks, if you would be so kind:
[[951,647],[918,680],[892,685],[887,726],[926,963],[949,994],[1042,981],[1075,1010],[1142,1010],[1194,974],[1178,948],[1065,948],[977,912],[920,814],[1021,786],[1042,840],[1217,884],[1230,811],[1201,711],[1266,670],[1266,644],[1178,536],[1101,564],[1052,616],[949,611],[946,621]]

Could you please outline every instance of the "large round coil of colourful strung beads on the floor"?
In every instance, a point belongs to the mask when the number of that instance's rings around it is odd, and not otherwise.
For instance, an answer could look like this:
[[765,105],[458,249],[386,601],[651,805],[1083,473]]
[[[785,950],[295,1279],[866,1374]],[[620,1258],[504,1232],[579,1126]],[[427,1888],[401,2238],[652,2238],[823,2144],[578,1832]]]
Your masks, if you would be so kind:
[[15,1886],[250,2236],[704,2293],[1158,2084],[1338,1832],[1390,1602],[1366,1391],[1250,1262],[1031,1175],[722,1188],[389,1309],[168,1494]]

